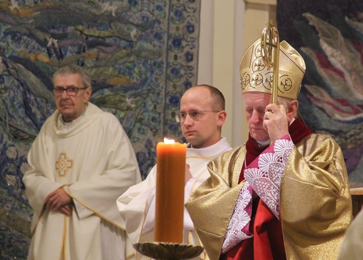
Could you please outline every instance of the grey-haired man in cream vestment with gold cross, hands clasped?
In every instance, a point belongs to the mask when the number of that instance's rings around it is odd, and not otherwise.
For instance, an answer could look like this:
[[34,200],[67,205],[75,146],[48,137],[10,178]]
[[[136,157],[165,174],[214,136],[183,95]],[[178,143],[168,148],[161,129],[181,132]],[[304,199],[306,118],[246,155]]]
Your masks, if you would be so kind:
[[30,260],[127,259],[133,253],[115,200],[141,181],[118,119],[88,102],[91,80],[68,65],[53,76],[57,110],[44,122],[23,182],[34,210]]

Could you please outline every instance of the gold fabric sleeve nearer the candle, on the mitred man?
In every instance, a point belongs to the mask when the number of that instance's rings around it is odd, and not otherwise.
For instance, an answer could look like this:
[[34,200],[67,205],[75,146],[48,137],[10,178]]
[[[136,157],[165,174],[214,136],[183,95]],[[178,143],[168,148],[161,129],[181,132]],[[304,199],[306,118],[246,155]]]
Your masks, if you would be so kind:
[[[218,259],[237,197],[245,147],[239,146],[211,160],[210,177],[194,190],[185,204],[209,258]],[[207,218],[205,216],[208,216]]]

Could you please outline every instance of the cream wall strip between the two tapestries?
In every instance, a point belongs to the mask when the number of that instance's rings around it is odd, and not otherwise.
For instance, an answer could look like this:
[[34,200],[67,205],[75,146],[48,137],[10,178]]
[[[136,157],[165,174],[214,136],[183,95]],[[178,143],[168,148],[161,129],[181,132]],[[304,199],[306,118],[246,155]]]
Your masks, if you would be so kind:
[[276,0],[201,0],[197,84],[217,87],[226,100],[222,135],[232,146],[244,143],[248,128],[239,88],[244,50],[275,19]]

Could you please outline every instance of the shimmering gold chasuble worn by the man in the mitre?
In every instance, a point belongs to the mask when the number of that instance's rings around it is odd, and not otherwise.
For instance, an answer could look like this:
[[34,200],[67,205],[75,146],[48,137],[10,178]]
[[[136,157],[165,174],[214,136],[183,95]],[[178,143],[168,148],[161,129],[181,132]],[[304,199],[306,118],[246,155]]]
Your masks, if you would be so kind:
[[[246,146],[241,145],[210,161],[211,176],[185,204],[206,259],[220,257],[234,206],[247,184],[246,180],[238,184],[245,156]],[[330,136],[312,133],[294,144],[279,198],[286,258],[336,259],[352,208],[343,156]]]

